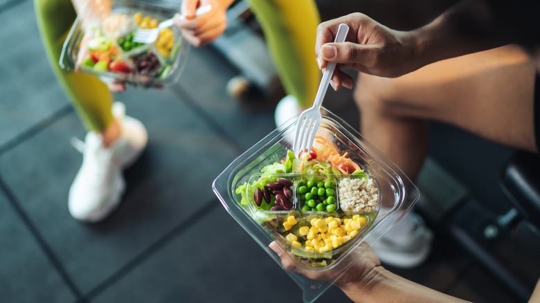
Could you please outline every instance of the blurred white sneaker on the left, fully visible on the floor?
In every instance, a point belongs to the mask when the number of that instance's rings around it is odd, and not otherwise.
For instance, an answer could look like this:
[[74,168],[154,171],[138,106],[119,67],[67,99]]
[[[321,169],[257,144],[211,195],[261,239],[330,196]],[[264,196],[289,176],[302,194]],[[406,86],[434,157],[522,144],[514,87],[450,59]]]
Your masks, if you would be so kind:
[[122,171],[141,154],[148,140],[141,121],[125,116],[124,104],[114,102],[113,113],[122,123],[122,135],[105,147],[99,134],[89,132],[75,143],[83,154],[82,166],[69,190],[69,212],[80,221],[105,219],[120,203],[125,190]]

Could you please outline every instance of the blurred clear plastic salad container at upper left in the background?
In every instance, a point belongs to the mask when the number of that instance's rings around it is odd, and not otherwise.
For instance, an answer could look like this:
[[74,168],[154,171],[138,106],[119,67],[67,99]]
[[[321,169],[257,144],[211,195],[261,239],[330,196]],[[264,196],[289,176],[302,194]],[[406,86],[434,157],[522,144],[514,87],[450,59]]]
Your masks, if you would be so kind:
[[[115,0],[109,10],[101,1],[88,1],[66,37],[60,66],[136,87],[174,84],[190,50],[179,30],[175,26],[161,29],[158,39],[146,44],[134,42],[133,34],[138,28],[155,27],[179,9],[174,3]],[[99,17],[90,18],[96,11]]]

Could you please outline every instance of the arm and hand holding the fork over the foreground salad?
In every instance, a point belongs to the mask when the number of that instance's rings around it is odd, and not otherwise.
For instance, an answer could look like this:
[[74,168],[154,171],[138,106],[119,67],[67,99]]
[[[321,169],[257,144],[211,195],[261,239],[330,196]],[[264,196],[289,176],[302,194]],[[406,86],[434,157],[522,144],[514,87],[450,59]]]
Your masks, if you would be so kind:
[[[408,32],[392,30],[361,13],[320,24],[315,53],[320,68],[328,61],[381,77],[399,77],[426,64],[501,46],[487,35],[492,19],[479,0],[464,0],[430,24]],[[339,24],[350,26],[347,42],[333,43]],[[341,71],[332,77],[334,89],[352,87],[352,77]]]

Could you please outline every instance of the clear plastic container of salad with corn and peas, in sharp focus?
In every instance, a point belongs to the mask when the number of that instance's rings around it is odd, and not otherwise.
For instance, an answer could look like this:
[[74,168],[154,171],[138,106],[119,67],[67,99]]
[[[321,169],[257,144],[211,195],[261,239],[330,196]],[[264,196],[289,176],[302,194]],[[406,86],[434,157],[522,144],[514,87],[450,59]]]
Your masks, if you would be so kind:
[[[289,163],[298,119],[291,118],[213,183],[228,213],[280,266],[271,242],[291,257],[295,270],[285,271],[303,289],[305,302],[315,301],[349,268],[352,250],[364,241],[375,243],[419,198],[417,187],[384,154],[334,113],[324,107],[321,113],[313,146],[317,155],[294,155],[298,158]],[[333,156],[323,162],[330,161],[332,168],[324,173],[301,168],[317,167],[309,157],[323,158],[327,149]],[[343,158],[356,169],[343,165]]]

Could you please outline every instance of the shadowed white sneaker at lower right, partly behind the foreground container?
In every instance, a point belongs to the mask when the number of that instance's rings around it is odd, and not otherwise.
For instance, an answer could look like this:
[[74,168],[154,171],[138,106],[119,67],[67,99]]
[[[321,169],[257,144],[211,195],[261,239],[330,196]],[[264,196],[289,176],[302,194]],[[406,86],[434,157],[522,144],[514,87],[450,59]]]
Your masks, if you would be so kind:
[[396,268],[413,268],[429,257],[433,232],[420,215],[411,212],[370,247],[381,263]]

